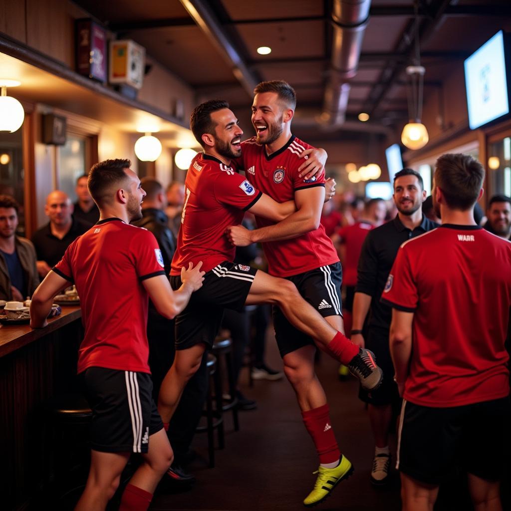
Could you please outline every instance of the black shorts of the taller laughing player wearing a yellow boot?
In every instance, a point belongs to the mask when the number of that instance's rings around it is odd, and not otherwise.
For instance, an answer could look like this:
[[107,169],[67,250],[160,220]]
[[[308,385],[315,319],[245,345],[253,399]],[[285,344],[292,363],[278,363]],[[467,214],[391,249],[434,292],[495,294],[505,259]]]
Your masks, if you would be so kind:
[[[291,281],[301,296],[323,317],[341,316],[341,263],[321,266],[314,270],[285,277]],[[278,307],[273,307],[273,325],[281,357],[301,347],[314,344],[313,339],[297,330]]]

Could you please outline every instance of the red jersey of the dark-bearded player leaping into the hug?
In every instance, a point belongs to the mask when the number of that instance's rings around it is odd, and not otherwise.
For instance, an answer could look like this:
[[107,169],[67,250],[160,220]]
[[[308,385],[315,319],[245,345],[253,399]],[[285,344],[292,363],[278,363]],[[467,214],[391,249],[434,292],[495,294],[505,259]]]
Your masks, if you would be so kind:
[[209,271],[218,263],[234,261],[236,249],[225,236],[225,229],[241,224],[244,211],[263,194],[233,168],[203,153],[192,160],[184,186],[171,275],[179,275],[189,262],[195,266],[202,261],[202,270]]

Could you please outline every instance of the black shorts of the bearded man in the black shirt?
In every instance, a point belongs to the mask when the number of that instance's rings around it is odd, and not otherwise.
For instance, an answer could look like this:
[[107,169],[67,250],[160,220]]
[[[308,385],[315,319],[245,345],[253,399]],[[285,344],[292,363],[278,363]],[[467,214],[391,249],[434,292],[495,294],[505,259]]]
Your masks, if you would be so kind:
[[394,382],[394,366],[390,356],[389,331],[385,328],[369,327],[365,337],[365,347],[375,354],[375,362],[383,371],[381,385],[371,392],[367,392],[360,386],[358,397],[364,403],[383,406],[401,406],[398,385]]

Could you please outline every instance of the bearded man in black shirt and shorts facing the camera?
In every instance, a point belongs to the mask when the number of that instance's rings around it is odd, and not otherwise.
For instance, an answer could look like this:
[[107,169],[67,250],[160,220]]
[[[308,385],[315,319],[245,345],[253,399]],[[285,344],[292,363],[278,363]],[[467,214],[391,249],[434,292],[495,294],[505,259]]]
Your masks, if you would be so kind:
[[[392,420],[392,405],[399,406],[400,402],[398,387],[393,381],[394,369],[389,350],[392,309],[381,304],[380,297],[400,245],[438,226],[422,214],[421,206],[426,199],[426,192],[419,173],[412,169],[398,172],[394,177],[393,199],[398,208],[398,215],[394,220],[371,230],[362,247],[351,332],[352,342],[373,351],[378,365],[383,369],[381,387],[370,393],[360,389],[359,394],[360,399],[368,403],[371,429],[375,437],[376,449],[371,482],[377,485],[388,482],[390,468],[388,433]],[[365,331],[364,322],[369,311]]]

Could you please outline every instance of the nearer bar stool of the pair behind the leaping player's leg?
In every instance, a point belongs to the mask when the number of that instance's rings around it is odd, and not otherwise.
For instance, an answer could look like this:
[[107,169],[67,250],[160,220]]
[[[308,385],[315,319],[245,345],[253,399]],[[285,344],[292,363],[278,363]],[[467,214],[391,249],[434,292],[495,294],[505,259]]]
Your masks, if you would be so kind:
[[[224,448],[224,429],[222,416],[222,382],[217,367],[217,358],[209,353],[207,355],[206,367],[208,371],[209,384],[206,396],[206,410],[203,416],[206,417],[205,426],[197,426],[197,433],[207,432],[207,452],[210,460],[210,468],[215,467],[215,436],[214,430],[218,433],[218,446]],[[213,390],[214,389],[214,390]],[[215,406],[213,406],[215,401]]]

